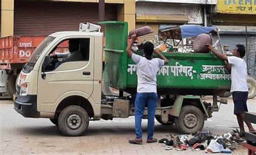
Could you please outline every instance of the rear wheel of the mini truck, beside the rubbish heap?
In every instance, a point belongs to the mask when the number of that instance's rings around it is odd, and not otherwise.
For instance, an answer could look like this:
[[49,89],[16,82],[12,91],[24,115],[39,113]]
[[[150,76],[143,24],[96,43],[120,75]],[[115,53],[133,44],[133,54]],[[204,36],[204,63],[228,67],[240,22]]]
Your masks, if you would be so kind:
[[193,105],[185,105],[181,108],[180,115],[174,119],[174,122],[182,133],[196,134],[203,129],[204,114]]

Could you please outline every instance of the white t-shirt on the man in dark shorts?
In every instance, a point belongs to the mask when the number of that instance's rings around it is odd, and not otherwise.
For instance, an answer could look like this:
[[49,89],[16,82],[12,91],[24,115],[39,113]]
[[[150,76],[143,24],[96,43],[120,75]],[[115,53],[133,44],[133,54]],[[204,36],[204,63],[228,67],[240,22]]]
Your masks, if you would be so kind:
[[248,91],[245,60],[234,56],[227,57],[227,60],[231,64],[231,92]]

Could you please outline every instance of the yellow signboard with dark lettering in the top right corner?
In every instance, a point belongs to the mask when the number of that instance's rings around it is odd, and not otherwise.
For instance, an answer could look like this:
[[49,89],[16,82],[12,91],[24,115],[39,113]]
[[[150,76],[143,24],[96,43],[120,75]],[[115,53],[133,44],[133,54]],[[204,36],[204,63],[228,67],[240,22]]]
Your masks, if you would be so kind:
[[256,14],[256,0],[217,0],[217,12]]

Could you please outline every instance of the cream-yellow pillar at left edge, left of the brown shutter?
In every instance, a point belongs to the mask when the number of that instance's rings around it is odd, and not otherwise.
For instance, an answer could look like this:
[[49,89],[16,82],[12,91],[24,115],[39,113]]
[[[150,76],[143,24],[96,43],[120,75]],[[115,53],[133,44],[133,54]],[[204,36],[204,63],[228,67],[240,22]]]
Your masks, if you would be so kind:
[[14,35],[14,0],[1,1],[1,37]]

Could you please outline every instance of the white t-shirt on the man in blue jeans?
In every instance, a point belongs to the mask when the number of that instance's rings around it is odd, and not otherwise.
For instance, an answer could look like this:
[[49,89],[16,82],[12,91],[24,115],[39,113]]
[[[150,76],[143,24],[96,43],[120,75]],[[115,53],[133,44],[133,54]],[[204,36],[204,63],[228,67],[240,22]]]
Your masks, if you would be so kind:
[[137,64],[138,93],[157,93],[157,72],[164,66],[164,60],[154,58],[147,60],[137,54],[132,54],[132,60]]

